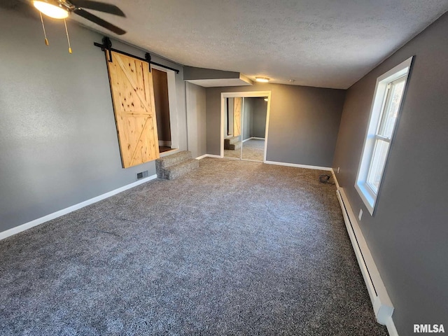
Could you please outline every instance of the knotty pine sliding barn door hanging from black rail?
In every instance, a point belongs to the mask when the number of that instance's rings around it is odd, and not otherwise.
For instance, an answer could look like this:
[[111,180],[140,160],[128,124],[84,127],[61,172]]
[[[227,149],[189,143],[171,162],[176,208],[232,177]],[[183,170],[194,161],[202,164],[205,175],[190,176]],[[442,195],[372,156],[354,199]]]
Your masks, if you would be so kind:
[[[106,52],[109,61],[109,52]],[[123,168],[159,158],[153,77],[148,62],[112,52],[107,62]]]

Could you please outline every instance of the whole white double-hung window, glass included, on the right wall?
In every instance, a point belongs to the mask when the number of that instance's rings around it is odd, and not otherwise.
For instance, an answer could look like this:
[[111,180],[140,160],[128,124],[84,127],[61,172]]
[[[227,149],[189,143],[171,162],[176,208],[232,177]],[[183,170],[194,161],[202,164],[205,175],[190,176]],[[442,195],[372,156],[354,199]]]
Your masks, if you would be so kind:
[[373,214],[412,57],[377,78],[355,188]]

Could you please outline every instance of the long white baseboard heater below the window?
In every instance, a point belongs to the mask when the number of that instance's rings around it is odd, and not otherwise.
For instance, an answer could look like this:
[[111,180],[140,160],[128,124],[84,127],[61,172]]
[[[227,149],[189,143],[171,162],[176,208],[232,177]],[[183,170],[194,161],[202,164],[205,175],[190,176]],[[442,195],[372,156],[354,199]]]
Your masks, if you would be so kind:
[[[387,294],[386,287],[384,287],[381,276],[379,276],[377,266],[375,265],[372,254],[365,243],[363,233],[359,228],[358,221],[356,221],[356,216],[353,214],[350,204],[346,198],[344,189],[339,188],[336,193],[339,204],[341,204],[342,214],[344,215],[345,225],[347,232],[349,232],[353,250],[355,251],[359,267],[363,273],[363,278],[370,295],[370,300],[372,300],[374,314],[378,323],[386,325],[389,329],[393,325],[393,304]],[[389,330],[389,334],[393,335],[393,332]]]

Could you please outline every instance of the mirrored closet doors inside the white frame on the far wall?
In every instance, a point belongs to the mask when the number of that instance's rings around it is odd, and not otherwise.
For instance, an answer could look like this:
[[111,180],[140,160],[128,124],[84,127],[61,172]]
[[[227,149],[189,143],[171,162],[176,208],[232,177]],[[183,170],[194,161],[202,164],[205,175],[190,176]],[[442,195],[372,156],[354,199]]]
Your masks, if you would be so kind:
[[263,162],[267,134],[267,97],[224,99],[223,156]]

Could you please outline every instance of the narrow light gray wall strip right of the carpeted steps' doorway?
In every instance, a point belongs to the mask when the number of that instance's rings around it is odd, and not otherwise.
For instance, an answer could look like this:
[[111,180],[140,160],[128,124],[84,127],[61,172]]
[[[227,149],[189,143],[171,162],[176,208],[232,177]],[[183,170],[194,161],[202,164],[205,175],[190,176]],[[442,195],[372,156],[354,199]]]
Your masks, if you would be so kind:
[[193,158],[207,154],[207,130],[205,113],[205,89],[192,83],[185,83],[188,118],[188,151]]

